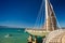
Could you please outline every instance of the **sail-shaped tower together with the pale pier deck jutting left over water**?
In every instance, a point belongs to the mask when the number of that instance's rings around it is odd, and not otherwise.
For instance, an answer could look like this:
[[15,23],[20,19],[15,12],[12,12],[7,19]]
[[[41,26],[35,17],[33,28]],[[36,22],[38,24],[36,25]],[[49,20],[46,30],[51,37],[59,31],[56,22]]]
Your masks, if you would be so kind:
[[56,30],[56,18],[50,0],[46,0],[46,22],[42,29],[26,29],[34,35],[46,35],[48,32]]

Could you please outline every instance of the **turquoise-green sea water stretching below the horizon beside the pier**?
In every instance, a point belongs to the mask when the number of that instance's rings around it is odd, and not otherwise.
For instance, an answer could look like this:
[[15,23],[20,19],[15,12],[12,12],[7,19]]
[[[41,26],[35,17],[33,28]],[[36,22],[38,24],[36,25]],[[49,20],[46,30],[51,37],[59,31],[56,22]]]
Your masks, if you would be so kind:
[[25,28],[0,28],[0,43],[28,43],[28,37],[29,33],[25,32]]

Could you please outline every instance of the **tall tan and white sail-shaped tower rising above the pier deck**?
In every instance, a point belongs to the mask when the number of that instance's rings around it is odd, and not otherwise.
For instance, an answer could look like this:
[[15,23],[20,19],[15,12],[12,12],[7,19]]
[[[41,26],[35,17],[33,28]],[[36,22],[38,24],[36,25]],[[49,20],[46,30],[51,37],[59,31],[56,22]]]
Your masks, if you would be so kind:
[[56,29],[56,18],[54,15],[53,6],[50,0],[46,0],[46,25],[44,29],[47,31],[52,31]]

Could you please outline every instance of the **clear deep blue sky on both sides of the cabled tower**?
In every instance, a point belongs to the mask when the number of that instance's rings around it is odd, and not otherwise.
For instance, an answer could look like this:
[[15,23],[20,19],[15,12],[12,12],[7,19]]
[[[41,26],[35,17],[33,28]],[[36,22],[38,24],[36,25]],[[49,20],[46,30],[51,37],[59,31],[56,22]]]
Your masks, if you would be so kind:
[[[31,28],[42,0],[0,0],[0,26]],[[61,27],[65,27],[65,0],[50,0]]]

